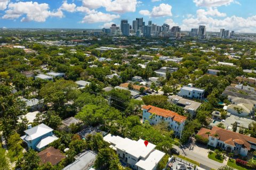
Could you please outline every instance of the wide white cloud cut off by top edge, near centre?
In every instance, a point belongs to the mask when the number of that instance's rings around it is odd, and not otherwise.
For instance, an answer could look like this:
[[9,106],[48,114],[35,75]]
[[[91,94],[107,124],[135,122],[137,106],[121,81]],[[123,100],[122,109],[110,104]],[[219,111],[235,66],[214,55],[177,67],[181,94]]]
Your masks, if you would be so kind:
[[84,7],[88,7],[90,9],[97,9],[99,7],[105,7],[108,12],[116,12],[116,13],[125,13],[125,12],[135,12],[137,4],[141,2],[137,2],[137,0],[83,0],[82,4]]

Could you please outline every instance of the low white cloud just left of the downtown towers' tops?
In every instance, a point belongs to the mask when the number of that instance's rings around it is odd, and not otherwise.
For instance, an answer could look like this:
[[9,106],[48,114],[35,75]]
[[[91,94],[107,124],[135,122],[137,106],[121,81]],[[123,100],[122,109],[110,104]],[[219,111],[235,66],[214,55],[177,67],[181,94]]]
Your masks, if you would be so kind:
[[97,12],[97,13],[91,13],[89,15],[85,15],[81,22],[82,23],[110,22],[117,18],[120,18],[120,15]]

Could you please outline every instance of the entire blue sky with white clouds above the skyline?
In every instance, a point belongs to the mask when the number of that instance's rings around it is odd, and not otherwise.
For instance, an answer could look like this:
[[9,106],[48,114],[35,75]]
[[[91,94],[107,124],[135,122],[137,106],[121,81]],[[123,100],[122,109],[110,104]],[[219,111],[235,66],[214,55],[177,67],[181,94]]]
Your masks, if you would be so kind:
[[256,32],[255,0],[0,0],[0,27],[108,28],[143,17],[181,30]]

